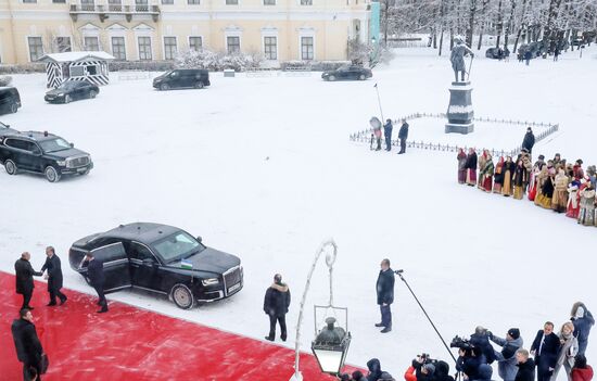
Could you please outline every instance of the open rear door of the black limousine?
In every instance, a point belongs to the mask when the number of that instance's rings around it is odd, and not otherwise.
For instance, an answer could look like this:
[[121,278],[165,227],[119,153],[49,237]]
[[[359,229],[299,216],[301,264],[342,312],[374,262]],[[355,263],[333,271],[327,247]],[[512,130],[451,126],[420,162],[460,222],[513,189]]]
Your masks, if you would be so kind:
[[[96,258],[93,261],[101,261],[103,263],[105,278],[103,289],[105,293],[130,288],[129,262],[122,242],[94,249],[91,253],[93,253],[93,257]],[[87,278],[87,275],[84,275]]]

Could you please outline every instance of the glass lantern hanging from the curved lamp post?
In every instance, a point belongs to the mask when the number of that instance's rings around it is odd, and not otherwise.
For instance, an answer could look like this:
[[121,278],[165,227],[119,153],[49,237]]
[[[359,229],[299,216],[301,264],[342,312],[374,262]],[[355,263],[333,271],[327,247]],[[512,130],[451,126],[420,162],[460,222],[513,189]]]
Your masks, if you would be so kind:
[[319,331],[310,347],[321,371],[338,376],[348,353],[351,332],[342,327],[334,327],[334,323],[335,318],[328,317],[326,327]]

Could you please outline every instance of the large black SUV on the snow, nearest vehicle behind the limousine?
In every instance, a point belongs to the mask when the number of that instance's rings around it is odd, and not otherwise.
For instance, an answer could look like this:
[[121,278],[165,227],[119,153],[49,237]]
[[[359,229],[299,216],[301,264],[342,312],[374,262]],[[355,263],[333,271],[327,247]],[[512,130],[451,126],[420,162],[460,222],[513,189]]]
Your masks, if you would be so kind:
[[0,129],[0,163],[9,175],[18,172],[43,174],[56,182],[64,175],[87,175],[91,156],[52,134]]

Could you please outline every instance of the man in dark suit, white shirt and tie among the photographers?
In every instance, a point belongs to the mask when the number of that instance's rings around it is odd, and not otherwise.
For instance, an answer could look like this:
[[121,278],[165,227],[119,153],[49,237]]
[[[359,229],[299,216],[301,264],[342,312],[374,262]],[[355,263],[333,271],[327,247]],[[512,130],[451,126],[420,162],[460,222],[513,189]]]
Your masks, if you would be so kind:
[[558,361],[559,351],[560,339],[554,333],[554,323],[547,321],[531,345],[531,354],[535,356],[537,366],[537,381],[549,381]]

